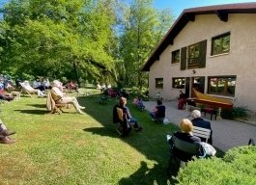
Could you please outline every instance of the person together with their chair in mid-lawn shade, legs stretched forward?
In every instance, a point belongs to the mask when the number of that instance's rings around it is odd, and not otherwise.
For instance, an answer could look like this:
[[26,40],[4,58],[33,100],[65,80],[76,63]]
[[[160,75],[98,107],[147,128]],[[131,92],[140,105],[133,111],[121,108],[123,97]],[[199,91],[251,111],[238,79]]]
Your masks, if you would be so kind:
[[127,98],[120,97],[119,104],[115,105],[113,109],[113,122],[121,124],[121,129],[118,130],[118,132],[123,136],[128,135],[131,126],[133,126],[136,131],[142,130],[142,127],[139,125],[137,119],[131,117],[126,105]]

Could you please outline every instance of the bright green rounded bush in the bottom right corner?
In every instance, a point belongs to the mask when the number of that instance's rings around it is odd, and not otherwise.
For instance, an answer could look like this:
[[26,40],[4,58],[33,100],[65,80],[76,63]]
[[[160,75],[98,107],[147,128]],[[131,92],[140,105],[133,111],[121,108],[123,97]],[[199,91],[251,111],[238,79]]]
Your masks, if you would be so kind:
[[223,159],[196,159],[181,169],[177,184],[256,184],[256,146],[241,146],[229,150]]

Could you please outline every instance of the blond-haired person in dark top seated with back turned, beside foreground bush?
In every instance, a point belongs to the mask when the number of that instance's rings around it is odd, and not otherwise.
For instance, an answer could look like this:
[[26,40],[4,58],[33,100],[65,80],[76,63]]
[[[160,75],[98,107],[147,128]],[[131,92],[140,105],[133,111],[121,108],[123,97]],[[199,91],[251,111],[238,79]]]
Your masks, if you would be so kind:
[[[174,133],[174,136],[176,136],[180,140],[183,140],[191,144],[194,144],[194,143],[199,144],[201,142],[200,138],[193,136],[192,134],[193,124],[189,119],[182,119],[180,126],[182,131]],[[173,142],[174,141],[172,139],[168,141],[168,143],[171,145],[173,144]],[[174,154],[175,156],[179,156],[179,158],[185,162],[191,160],[193,157],[191,154],[185,153],[184,151],[181,151],[180,149],[175,147],[172,149],[172,154]]]

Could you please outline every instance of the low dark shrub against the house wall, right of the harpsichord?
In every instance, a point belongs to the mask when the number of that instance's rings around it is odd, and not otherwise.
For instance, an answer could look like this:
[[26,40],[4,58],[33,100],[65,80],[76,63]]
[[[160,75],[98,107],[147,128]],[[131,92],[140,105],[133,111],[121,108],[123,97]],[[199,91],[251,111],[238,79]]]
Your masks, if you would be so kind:
[[246,118],[249,113],[245,107],[233,107],[232,109],[223,109],[221,117],[223,119]]

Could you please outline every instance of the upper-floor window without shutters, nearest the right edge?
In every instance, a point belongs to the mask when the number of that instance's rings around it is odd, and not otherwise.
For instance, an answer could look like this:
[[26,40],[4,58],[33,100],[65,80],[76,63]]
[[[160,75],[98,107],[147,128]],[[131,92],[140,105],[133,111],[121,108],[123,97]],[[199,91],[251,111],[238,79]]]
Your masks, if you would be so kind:
[[216,36],[212,39],[212,56],[228,53],[230,49],[230,32]]

